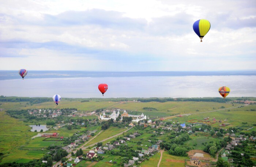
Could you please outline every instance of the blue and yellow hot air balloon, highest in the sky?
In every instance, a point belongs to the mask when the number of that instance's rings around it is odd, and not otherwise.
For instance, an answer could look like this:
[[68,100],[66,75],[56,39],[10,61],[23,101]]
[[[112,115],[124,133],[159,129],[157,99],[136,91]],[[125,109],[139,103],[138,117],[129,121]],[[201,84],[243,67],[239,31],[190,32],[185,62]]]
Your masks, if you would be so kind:
[[199,36],[199,38],[201,39],[201,42],[203,42],[202,39],[203,39],[204,35],[206,35],[208,33],[210,28],[211,28],[210,22],[208,20],[204,20],[204,19],[197,20],[193,24],[193,30]]

